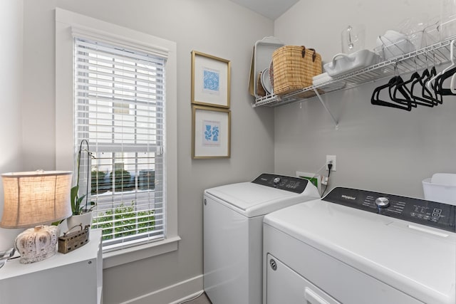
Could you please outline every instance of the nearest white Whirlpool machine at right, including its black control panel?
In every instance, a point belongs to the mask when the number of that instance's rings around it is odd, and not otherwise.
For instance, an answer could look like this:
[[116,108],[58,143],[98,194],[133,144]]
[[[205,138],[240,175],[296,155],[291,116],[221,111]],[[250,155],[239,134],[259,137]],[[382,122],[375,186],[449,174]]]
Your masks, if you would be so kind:
[[338,187],[266,215],[264,260],[267,304],[455,304],[456,206]]

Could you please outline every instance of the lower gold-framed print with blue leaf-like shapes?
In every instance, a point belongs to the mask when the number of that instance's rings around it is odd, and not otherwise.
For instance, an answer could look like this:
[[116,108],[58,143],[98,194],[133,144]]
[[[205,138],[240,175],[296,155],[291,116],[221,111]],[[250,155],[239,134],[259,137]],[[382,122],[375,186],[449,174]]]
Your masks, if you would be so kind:
[[229,158],[231,110],[192,105],[192,158]]

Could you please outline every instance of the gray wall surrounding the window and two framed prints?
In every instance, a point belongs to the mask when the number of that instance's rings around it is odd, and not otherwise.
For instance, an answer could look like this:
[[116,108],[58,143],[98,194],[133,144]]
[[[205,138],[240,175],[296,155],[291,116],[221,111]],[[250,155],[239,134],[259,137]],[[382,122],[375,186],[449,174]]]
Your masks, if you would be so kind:
[[[120,303],[201,276],[203,190],[251,180],[274,168],[274,110],[252,109],[247,91],[254,42],[271,36],[273,21],[225,0],[24,0],[24,169],[55,167],[56,6],[177,42],[179,151],[174,187],[182,241],[178,251],[105,269],[104,303]],[[191,158],[192,50],[232,63],[229,159]]]

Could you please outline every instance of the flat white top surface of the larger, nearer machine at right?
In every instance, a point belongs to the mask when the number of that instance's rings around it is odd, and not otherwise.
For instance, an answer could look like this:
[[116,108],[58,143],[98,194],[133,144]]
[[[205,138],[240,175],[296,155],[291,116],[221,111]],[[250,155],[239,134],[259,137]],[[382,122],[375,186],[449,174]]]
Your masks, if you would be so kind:
[[320,199],[264,223],[424,303],[456,303],[455,233]]

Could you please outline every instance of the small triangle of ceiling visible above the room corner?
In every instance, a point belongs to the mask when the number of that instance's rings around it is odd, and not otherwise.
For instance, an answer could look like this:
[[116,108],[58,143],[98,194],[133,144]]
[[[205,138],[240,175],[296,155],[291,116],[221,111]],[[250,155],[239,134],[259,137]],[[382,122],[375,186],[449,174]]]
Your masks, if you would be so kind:
[[231,0],[271,20],[284,14],[299,0]]

